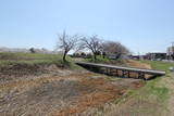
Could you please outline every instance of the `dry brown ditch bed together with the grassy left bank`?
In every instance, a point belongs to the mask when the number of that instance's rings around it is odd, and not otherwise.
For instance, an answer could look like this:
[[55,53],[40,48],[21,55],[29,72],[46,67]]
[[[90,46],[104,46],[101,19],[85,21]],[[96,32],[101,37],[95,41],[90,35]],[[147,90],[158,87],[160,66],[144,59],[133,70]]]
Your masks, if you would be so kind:
[[92,108],[144,86],[142,80],[79,72],[72,65],[62,68],[61,55],[1,53],[0,115],[92,115]]

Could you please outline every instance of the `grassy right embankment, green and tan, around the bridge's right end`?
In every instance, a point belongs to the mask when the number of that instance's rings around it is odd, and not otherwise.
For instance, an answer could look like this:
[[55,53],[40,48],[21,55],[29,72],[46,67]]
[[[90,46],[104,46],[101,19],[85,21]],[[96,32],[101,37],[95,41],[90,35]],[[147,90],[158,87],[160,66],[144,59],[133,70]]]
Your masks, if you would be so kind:
[[172,116],[174,100],[174,74],[169,70],[172,63],[157,61],[141,61],[151,65],[153,69],[166,70],[166,75],[146,81],[137,91],[129,91],[128,95],[115,101],[115,105],[102,111],[104,115],[122,116]]

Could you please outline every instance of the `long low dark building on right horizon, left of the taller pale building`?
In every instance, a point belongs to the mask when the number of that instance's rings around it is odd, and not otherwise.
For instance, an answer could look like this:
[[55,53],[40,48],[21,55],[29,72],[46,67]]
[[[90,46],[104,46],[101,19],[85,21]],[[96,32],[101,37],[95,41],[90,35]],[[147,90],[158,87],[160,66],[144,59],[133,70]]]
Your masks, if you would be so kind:
[[165,60],[166,53],[147,53],[146,59],[147,60]]

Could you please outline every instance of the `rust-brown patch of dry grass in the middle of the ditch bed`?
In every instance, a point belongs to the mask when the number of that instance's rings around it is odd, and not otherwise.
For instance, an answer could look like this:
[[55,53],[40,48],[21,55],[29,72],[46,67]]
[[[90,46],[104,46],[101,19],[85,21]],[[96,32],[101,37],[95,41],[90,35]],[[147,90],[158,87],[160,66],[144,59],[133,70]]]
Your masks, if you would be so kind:
[[109,102],[110,100],[117,99],[124,93],[122,87],[116,87],[103,78],[84,79],[80,81],[80,85],[90,88],[92,91],[90,90],[90,92],[84,93],[82,96],[79,96],[76,105],[73,107],[65,107],[60,113],[58,113],[58,116],[79,114],[88,107],[92,107]]

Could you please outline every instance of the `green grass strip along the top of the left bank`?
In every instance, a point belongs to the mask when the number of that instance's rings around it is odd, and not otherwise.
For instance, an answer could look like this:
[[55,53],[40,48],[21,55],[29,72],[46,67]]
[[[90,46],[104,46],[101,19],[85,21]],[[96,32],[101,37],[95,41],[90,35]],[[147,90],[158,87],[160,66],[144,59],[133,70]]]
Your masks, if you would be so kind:
[[55,64],[59,67],[76,69],[71,57],[66,57],[67,62],[63,62],[61,54],[40,54],[40,53],[0,53],[0,67],[13,66],[16,64],[39,65]]

